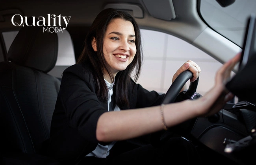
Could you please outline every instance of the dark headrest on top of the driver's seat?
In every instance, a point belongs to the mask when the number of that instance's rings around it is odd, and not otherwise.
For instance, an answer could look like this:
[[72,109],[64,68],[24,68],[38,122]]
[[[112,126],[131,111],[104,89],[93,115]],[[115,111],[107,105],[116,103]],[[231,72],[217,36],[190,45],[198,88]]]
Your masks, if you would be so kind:
[[[32,17],[28,25],[32,25]],[[55,32],[44,31],[43,27],[24,24],[9,48],[8,60],[45,73],[52,70],[58,56],[58,36]]]

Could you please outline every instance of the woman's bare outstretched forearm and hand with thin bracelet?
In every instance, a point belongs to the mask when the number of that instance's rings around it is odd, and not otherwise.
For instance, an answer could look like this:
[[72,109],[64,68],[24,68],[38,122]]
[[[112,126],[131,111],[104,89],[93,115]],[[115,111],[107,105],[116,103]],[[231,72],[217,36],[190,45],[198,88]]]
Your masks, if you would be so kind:
[[[232,98],[225,84],[240,59],[240,53],[226,62],[216,73],[215,85],[204,97],[164,106],[163,116],[168,127],[198,116],[217,113]],[[109,142],[135,138],[162,130],[160,106],[103,113],[97,123],[96,138]]]

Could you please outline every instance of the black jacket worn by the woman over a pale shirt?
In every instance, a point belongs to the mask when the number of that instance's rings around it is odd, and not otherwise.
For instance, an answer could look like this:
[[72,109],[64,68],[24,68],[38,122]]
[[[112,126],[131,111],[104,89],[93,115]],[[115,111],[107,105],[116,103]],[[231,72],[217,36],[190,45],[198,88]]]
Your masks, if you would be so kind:
[[[130,81],[134,84],[132,79]],[[43,144],[48,156],[65,162],[77,161],[100,143],[96,139],[96,124],[100,115],[108,111],[108,106],[107,102],[99,101],[95,88],[87,65],[74,64],[63,72],[50,139]],[[129,93],[130,108],[160,105],[163,96],[135,84]]]

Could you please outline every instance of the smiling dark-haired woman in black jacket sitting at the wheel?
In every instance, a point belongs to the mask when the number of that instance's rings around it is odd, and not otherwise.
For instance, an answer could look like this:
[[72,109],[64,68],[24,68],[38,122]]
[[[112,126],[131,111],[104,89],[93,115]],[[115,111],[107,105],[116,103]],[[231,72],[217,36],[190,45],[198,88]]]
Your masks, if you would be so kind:
[[[193,102],[194,107],[190,101],[160,106],[164,94],[149,92],[131,79],[134,69],[138,77],[142,61],[137,22],[127,12],[104,9],[87,33],[78,62],[63,72],[50,138],[42,150],[71,164],[200,164],[195,146],[180,136],[167,132],[162,144],[148,139],[198,114],[218,111],[232,97],[223,92],[223,81],[238,60],[236,56],[221,68],[215,88]],[[191,81],[200,74],[200,67],[187,61],[173,80],[184,70],[192,72]],[[220,96],[221,104],[211,106]],[[134,138],[144,140],[138,144]]]

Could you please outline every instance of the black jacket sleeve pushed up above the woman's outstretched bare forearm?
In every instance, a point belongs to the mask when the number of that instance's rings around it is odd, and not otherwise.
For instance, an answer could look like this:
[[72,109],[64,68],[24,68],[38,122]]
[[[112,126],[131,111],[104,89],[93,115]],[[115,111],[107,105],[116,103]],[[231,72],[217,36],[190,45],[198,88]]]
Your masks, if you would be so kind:
[[[58,122],[52,123],[51,129],[59,130],[65,121],[69,127],[78,130],[85,140],[99,143],[96,139],[96,125],[100,115],[107,112],[104,105],[96,96],[92,75],[85,72],[82,65],[76,64],[63,72],[54,113],[65,114],[59,125]],[[54,114],[53,119],[57,116],[61,117]]]

